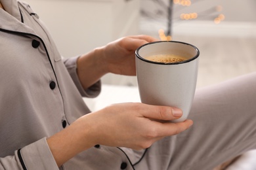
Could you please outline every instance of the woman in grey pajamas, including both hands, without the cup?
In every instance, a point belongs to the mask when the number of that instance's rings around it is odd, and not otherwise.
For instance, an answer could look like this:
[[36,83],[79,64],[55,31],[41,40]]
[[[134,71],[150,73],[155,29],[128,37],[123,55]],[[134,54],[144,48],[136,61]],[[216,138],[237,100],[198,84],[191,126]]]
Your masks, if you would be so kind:
[[156,39],[62,59],[28,4],[0,2],[0,169],[211,169],[256,147],[255,73],[198,91],[194,126],[160,123],[182,111],[142,103],[90,113],[81,96],[98,95],[106,73],[135,75],[135,49]]

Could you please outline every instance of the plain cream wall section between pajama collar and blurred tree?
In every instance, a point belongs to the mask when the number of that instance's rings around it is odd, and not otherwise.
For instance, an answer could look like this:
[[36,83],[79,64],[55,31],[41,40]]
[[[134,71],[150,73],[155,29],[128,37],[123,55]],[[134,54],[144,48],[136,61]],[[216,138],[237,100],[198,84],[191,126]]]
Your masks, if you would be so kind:
[[139,29],[139,0],[26,0],[64,57],[103,46]]

